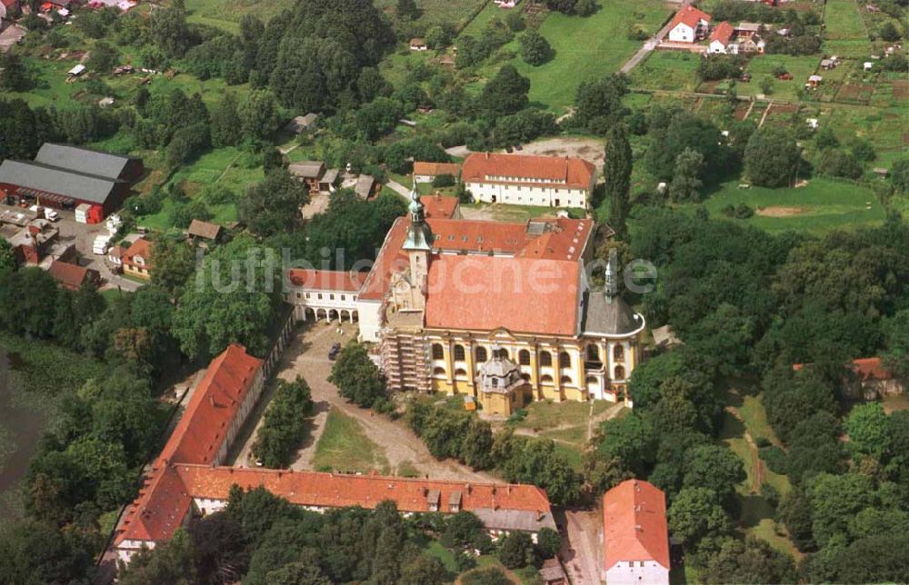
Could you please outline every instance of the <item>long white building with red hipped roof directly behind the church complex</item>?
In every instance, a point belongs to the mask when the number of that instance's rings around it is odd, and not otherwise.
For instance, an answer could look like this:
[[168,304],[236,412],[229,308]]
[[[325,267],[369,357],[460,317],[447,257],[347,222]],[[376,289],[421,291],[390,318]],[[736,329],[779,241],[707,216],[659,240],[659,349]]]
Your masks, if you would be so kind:
[[596,168],[567,156],[474,153],[464,161],[461,182],[485,203],[586,208]]

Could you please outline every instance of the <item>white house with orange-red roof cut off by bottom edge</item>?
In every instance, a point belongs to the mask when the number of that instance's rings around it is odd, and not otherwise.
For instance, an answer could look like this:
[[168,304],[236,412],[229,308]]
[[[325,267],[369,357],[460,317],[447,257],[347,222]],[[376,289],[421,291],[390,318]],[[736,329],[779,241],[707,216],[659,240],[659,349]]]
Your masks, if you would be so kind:
[[603,576],[608,585],[669,585],[663,491],[626,480],[603,495]]

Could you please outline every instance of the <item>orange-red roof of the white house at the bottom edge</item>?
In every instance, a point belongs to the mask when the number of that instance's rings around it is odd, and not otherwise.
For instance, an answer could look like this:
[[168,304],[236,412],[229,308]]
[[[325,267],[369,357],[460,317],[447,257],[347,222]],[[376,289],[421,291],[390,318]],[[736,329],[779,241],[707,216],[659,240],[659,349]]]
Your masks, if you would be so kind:
[[616,562],[655,560],[669,569],[669,531],[663,491],[643,480],[626,480],[603,495],[606,570]]

